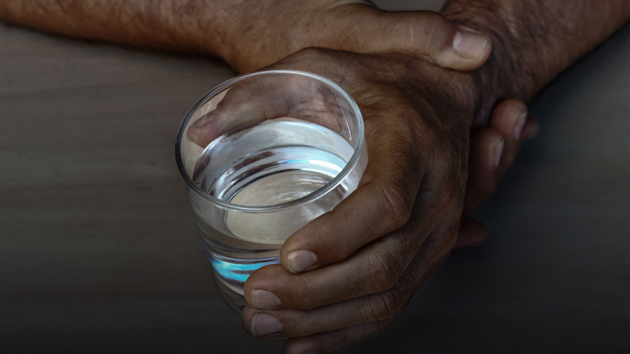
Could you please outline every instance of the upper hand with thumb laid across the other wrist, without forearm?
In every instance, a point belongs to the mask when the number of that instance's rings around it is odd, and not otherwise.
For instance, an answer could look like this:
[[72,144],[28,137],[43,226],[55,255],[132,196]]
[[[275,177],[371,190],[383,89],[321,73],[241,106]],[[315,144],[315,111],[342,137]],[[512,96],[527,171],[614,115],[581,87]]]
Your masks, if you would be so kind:
[[[449,69],[481,66],[490,37],[433,11],[382,11],[365,0],[244,2],[227,14],[234,21],[224,59],[237,71],[272,64],[307,47],[428,59]],[[236,30],[239,28],[240,30]]]

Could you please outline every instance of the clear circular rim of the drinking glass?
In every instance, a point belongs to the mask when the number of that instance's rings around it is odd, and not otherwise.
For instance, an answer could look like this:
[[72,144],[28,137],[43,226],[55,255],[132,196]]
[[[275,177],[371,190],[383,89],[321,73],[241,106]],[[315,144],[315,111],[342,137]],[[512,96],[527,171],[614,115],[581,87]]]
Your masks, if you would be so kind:
[[[305,195],[304,197],[297,198],[295,200],[291,200],[285,203],[280,203],[280,204],[275,204],[275,205],[263,205],[263,206],[234,204],[234,203],[226,202],[216,197],[212,197],[212,195],[203,191],[190,179],[190,176],[188,176],[188,173],[186,172],[186,168],[184,167],[183,161],[181,159],[181,141],[183,139],[184,130],[186,130],[186,125],[188,125],[188,122],[190,121],[190,119],[193,117],[193,115],[195,115],[195,113],[201,106],[203,106],[208,100],[210,100],[210,98],[212,98],[216,94],[220,93],[226,88],[229,88],[229,86],[241,83],[248,79],[253,79],[256,77],[274,76],[277,74],[301,75],[301,76],[311,77],[312,79],[316,79],[318,81],[323,82],[324,84],[327,84],[331,88],[335,89],[337,93],[341,94],[341,96],[348,101],[348,103],[352,107],[352,110],[355,112],[355,115],[357,117],[357,121],[358,121],[357,147],[352,153],[352,156],[350,157],[350,160],[348,161],[346,166],[344,166],[344,168],[341,169],[340,173],[338,173],[335,176],[335,178],[330,180],[325,185],[321,186],[318,190],[312,191],[311,193],[309,193],[308,195]],[[341,86],[331,81],[330,79],[326,79],[326,77],[319,76],[318,74],[313,74],[312,72],[292,70],[292,69],[270,69],[270,70],[250,72],[249,74],[243,74],[240,76],[232,77],[232,79],[224,81],[224,83],[210,90],[202,98],[200,98],[200,100],[198,100],[197,103],[195,103],[195,105],[193,105],[192,108],[188,110],[188,113],[186,113],[186,116],[181,122],[180,128],[177,132],[177,137],[175,139],[175,160],[177,163],[177,168],[180,171],[181,178],[183,178],[184,180],[184,183],[192,191],[195,191],[195,193],[197,193],[199,197],[202,197],[203,199],[207,200],[207,202],[210,202],[216,205],[217,207],[221,207],[221,208],[236,211],[236,212],[249,212],[249,213],[277,212],[280,210],[287,210],[287,209],[291,209],[295,207],[301,207],[302,205],[306,205],[308,203],[314,202],[315,200],[318,200],[320,197],[323,197],[324,195],[326,195],[329,191],[332,191],[333,189],[335,189],[336,186],[338,186],[341,183],[341,181],[346,176],[348,176],[348,174],[350,174],[355,164],[357,164],[357,160],[360,157],[360,151],[363,148],[364,144],[365,144],[365,131],[364,131],[363,116],[361,115],[361,111],[359,110],[357,103],[355,102],[355,100],[353,100],[352,96],[350,96],[350,94],[348,94],[345,91],[345,89],[341,88]]]

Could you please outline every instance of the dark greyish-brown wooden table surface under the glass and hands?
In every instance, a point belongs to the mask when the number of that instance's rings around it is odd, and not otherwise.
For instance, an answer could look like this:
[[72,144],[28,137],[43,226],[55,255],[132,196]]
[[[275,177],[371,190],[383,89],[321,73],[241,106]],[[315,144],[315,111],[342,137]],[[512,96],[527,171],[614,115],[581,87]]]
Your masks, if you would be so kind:
[[[532,102],[540,133],[476,214],[490,241],[344,353],[630,351],[629,57],[630,24]],[[0,23],[0,351],[280,352],[217,295],[175,166],[232,76]]]

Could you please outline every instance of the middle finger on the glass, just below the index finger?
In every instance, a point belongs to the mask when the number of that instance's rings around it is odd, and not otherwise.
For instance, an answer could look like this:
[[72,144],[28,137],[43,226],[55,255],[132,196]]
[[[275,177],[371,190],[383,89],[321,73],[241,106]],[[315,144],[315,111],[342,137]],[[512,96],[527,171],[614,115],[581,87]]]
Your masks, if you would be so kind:
[[415,255],[405,240],[381,237],[345,261],[294,274],[281,265],[256,270],[244,285],[257,309],[310,310],[391,288]]

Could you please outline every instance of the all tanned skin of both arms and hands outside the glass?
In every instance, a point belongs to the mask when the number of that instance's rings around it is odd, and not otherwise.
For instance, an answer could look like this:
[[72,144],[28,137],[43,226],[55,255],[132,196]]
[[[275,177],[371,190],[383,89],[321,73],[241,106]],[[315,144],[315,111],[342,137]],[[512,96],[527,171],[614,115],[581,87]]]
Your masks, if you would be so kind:
[[[240,72],[306,47],[371,54],[303,50],[275,65],[345,87],[364,113],[370,158],[357,192],[290,237],[282,265],[261,268],[246,283],[244,328],[258,338],[292,337],[287,353],[335,351],[388,328],[451,249],[483,242],[483,226],[466,215],[495,189],[536,122],[522,115],[522,102],[504,101],[468,144],[479,111],[472,98],[488,112],[493,95],[527,100],[630,18],[624,1],[452,0],[444,16],[387,13],[361,0],[115,3],[5,0],[0,17],[76,37],[213,54]],[[469,70],[488,55],[480,68],[486,94],[467,74],[419,60]],[[295,268],[298,253],[312,253],[314,263]],[[272,319],[281,328],[265,334]]]

